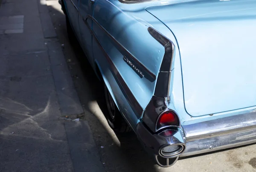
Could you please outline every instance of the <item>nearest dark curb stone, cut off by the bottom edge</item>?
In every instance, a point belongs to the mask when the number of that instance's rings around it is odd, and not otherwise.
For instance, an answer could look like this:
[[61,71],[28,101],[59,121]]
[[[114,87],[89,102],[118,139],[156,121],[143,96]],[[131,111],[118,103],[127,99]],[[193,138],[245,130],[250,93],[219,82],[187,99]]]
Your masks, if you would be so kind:
[[74,171],[105,172],[88,122],[65,121],[64,126]]

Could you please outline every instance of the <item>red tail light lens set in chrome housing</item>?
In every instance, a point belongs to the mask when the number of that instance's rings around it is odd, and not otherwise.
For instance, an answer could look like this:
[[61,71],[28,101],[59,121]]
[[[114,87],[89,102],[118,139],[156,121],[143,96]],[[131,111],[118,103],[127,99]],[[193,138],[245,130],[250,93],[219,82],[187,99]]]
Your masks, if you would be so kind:
[[172,111],[164,112],[157,121],[157,129],[162,126],[180,126],[180,120],[177,117],[177,114]]

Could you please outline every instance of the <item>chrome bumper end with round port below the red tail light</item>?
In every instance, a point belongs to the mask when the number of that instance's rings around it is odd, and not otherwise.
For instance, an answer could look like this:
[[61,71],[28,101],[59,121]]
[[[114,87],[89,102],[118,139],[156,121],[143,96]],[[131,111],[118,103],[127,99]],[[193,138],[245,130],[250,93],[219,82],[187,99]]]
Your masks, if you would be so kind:
[[170,128],[152,134],[142,122],[137,124],[137,136],[145,150],[153,155],[157,165],[169,167],[176,163],[186,149],[182,128]]

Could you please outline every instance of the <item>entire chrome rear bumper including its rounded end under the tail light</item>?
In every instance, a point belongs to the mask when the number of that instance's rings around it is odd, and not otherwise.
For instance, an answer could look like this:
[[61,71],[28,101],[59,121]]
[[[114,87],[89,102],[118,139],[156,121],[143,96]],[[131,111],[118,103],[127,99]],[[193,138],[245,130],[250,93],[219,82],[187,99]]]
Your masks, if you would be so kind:
[[[184,135],[184,144],[186,145],[185,151],[178,157],[255,143],[256,110],[186,121],[183,123],[182,129],[178,129],[178,132],[180,135]],[[154,154],[156,160],[160,156],[157,149],[170,144],[170,138],[161,138],[159,141],[159,134],[149,132],[142,122],[138,123],[137,136],[146,150]],[[172,158],[173,163],[166,165],[159,163],[159,161],[157,163],[160,166],[172,166],[177,158]],[[171,158],[168,162],[170,160]]]

